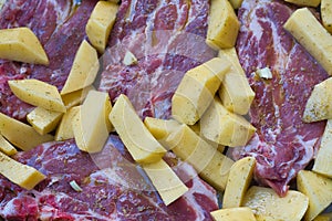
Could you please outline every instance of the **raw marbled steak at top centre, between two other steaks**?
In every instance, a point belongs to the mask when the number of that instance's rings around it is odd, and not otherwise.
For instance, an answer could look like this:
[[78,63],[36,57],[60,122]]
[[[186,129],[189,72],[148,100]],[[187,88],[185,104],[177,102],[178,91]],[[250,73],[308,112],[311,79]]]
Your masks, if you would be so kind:
[[[141,117],[170,116],[170,98],[185,72],[215,56],[205,44],[208,1],[124,0],[111,33],[100,90],[124,93]],[[124,65],[126,52],[137,64]]]

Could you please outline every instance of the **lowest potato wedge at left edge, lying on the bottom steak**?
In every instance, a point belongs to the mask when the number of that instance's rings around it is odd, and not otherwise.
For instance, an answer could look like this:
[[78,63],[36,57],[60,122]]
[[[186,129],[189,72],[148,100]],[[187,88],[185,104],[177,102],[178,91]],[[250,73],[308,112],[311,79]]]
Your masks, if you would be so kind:
[[0,152],[0,173],[27,190],[33,189],[35,185],[46,178],[33,167],[22,165],[2,152]]

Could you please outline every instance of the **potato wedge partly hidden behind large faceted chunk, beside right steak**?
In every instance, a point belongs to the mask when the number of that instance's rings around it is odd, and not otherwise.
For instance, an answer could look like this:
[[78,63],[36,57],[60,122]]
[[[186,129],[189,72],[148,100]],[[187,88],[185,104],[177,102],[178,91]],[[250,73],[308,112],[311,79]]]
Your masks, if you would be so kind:
[[220,50],[218,56],[231,63],[230,71],[224,77],[218,91],[222,105],[239,115],[248,114],[255,98],[235,48]]

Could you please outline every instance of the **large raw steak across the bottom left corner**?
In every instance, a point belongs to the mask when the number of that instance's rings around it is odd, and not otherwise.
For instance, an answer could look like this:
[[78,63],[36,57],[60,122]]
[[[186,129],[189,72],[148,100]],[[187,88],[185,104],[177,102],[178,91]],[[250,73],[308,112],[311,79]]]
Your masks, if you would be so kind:
[[[0,177],[0,217],[7,220],[211,220],[209,211],[218,208],[215,190],[173,155],[165,159],[189,191],[166,207],[114,135],[95,155],[68,140],[41,145],[15,158],[48,179],[25,191]],[[73,180],[81,192],[70,186]]]

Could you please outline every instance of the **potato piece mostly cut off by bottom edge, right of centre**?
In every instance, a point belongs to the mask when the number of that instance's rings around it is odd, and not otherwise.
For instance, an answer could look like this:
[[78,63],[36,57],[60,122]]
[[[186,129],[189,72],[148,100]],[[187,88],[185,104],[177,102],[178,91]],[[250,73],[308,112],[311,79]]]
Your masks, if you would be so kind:
[[247,207],[220,209],[210,214],[215,221],[256,221],[253,212]]

